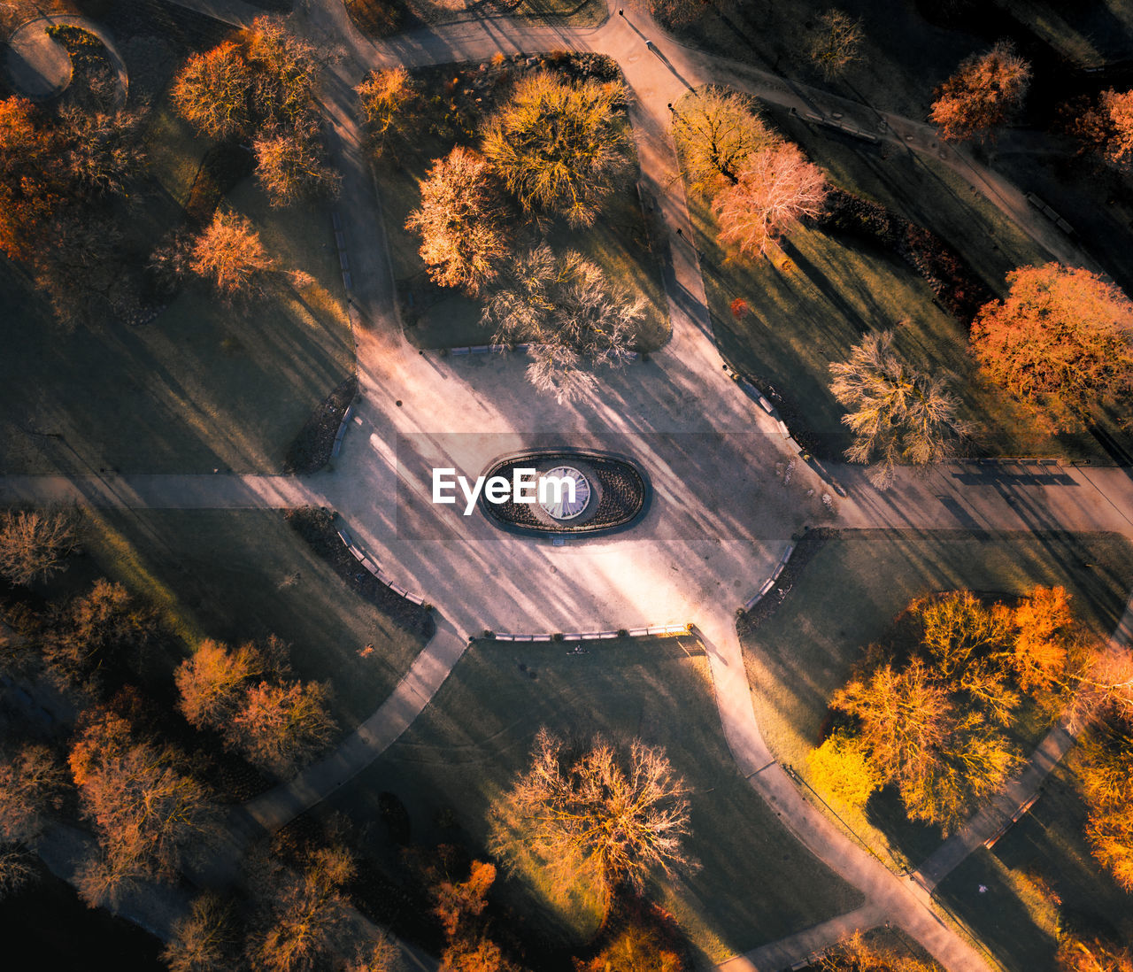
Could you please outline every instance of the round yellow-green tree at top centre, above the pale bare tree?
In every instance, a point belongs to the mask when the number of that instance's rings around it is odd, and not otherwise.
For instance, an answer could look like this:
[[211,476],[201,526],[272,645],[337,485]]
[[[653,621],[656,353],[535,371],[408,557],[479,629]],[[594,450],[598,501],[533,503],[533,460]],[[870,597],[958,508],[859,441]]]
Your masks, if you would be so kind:
[[485,126],[484,154],[525,210],[591,225],[629,168],[623,96],[617,83],[525,77]]

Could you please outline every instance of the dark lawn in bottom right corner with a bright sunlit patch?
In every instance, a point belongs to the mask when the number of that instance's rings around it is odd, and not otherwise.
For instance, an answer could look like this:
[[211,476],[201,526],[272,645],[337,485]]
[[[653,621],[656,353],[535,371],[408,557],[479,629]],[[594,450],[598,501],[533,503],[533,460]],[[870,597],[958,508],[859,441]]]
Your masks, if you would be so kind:
[[[1010,972],[1057,972],[1059,923],[1080,935],[1133,940],[1133,895],[1090,854],[1084,820],[1075,776],[1059,766],[1031,811],[937,889]],[[980,885],[987,888],[983,894]]]

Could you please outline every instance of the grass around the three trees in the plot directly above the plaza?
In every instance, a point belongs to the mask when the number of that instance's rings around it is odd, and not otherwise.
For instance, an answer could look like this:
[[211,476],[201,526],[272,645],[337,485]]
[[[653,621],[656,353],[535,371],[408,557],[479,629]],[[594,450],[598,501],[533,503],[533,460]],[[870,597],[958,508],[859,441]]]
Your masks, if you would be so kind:
[[[461,65],[445,68],[443,74],[425,69],[418,71],[417,77],[427,93],[440,93],[443,88],[444,97],[460,106],[457,116],[462,120],[459,125],[475,134],[480,118],[491,113],[493,100],[506,96],[510,84],[504,73],[513,70],[511,62],[487,66],[484,73],[478,71],[475,65]],[[450,76],[460,79],[451,92],[449,85],[443,84]],[[496,78],[504,79],[496,82]],[[477,101],[482,103],[477,104]],[[443,104],[437,110],[443,110]],[[433,161],[448,154],[453,146],[452,138],[441,138],[431,133],[429,123],[431,120],[426,119],[420,125],[412,151],[402,155],[400,165],[382,162],[377,167],[406,336],[421,348],[486,344],[492,339],[492,332],[480,325],[480,302],[458,290],[432,284],[418,255],[420,238],[406,229],[406,219],[420,204],[419,182]],[[462,140],[468,142],[468,136]],[[636,177],[636,160],[632,171]],[[523,231],[518,235],[525,236]],[[642,295],[647,308],[645,318],[638,325],[637,344],[646,351],[664,344],[670,325],[661,280],[659,241],[650,239],[632,179],[610,199],[593,227],[571,229],[562,220],[555,220],[546,233],[546,241],[555,250],[579,250],[602,267],[610,280],[623,284],[631,293]]]

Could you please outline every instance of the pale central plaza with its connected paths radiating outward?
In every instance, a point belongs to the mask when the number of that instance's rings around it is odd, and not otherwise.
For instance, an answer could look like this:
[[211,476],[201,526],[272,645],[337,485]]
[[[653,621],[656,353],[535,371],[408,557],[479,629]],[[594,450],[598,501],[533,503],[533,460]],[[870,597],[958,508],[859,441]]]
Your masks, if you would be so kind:
[[[186,6],[196,6],[186,3]],[[225,5],[210,0],[208,6]],[[242,15],[241,15],[242,16]],[[233,19],[236,16],[233,15]],[[663,40],[657,53],[642,22],[611,17],[574,31],[508,20],[452,25],[376,44],[353,31],[337,0],[310,0],[299,27],[334,39],[348,57],[326,70],[323,102],[332,150],[343,174],[343,233],[355,282],[360,399],[358,427],[333,474],[282,477],[8,477],[0,498],[44,498],[79,491],[88,502],[116,505],[295,505],[317,502],[346,518],[386,573],[440,604],[438,633],[390,699],[326,760],[252,801],[250,826],[274,828],[324,799],[392,743],[427,705],[466,649],[470,632],[595,630],[637,623],[695,622],[708,650],[724,734],[741,771],[784,824],[833,871],[857,886],[866,905],[795,936],[782,949],[812,943],[883,918],[898,924],[949,970],[977,970],[980,956],[934,913],[928,894],[902,881],[851,844],[807,803],[772,758],[759,733],[734,608],[769,573],[790,537],[818,519],[824,492],[802,463],[790,485],[772,475],[793,452],[770,419],[727,380],[713,341],[696,251],[675,235],[688,212],[668,135],[667,103],[707,80],[742,80],[757,93],[823,109],[833,100],[777,78]],[[352,87],[373,67],[479,60],[496,51],[574,48],[617,59],[632,89],[631,117],[645,189],[658,201],[670,230],[665,290],[673,338],[648,364],[604,381],[599,395],[559,407],[530,391],[522,361],[497,356],[436,363],[402,339],[381,225],[380,201],[355,120]],[[841,106],[841,105],[840,105]],[[891,119],[888,137],[902,144]],[[910,128],[913,139],[930,134]],[[917,147],[914,145],[914,147]],[[925,148],[929,151],[926,142]],[[938,151],[931,147],[931,151]],[[959,153],[945,161],[970,167]],[[1017,193],[991,173],[986,191],[1008,211]],[[1014,194],[1014,195],[1012,195]],[[1014,201],[1014,202],[1013,202]],[[1037,239],[1072,262],[1084,257],[1024,206],[1012,212]],[[649,517],[615,540],[571,540],[564,547],[501,534],[479,517],[465,519],[427,496],[428,470],[452,466],[477,475],[505,452],[569,436],[572,445],[634,457],[654,481]],[[1057,481],[989,478],[968,467],[902,476],[887,494],[860,470],[838,468],[850,491],[840,519],[849,527],[1119,529],[1131,532],[1133,483],[1125,470],[1059,470]],[[981,487],[988,488],[981,488]],[[236,824],[237,821],[233,821]],[[250,827],[255,830],[257,827]],[[757,950],[730,969],[766,967],[781,954]]]

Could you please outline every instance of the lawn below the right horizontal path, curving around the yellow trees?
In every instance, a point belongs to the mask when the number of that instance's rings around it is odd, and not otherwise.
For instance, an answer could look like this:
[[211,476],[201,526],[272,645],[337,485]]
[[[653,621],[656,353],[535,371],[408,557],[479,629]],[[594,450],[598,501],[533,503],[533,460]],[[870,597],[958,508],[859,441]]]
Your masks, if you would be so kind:
[[[830,694],[844,684],[860,649],[883,639],[914,597],[955,589],[1021,594],[1036,583],[1064,585],[1080,616],[1108,634],[1133,587],[1133,549],[1114,534],[854,530],[832,539],[778,612],[744,639],[767,744],[806,775]],[[1042,732],[1032,718],[1019,726],[1019,741],[1025,748]],[[866,815],[845,816],[902,866],[919,864],[940,844],[938,830],[905,819],[889,791],[875,795]]]

